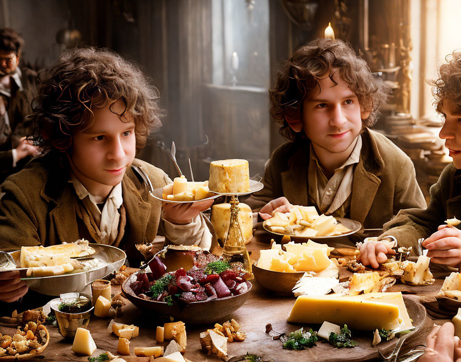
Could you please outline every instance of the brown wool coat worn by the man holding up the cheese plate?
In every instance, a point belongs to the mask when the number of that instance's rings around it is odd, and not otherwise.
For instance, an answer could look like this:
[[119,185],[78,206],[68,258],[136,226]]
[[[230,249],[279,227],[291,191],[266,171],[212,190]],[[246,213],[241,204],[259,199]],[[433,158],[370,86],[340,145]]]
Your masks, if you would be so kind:
[[[167,184],[168,176],[147,162],[135,159],[148,174],[154,189]],[[68,173],[56,160],[36,158],[0,186],[5,194],[0,201],[0,249],[18,250],[21,246],[55,245],[82,237],[91,239],[91,218],[76,213],[77,195],[68,183]],[[139,260],[135,244],[150,243],[163,234],[162,203],[149,196],[144,183],[129,168],[122,179],[123,207],[126,213],[124,236],[119,247],[129,259]],[[205,218],[206,220],[206,218]],[[209,225],[208,225],[209,226]]]

